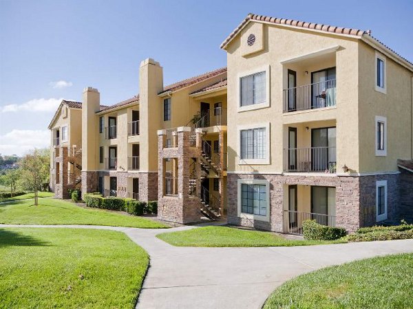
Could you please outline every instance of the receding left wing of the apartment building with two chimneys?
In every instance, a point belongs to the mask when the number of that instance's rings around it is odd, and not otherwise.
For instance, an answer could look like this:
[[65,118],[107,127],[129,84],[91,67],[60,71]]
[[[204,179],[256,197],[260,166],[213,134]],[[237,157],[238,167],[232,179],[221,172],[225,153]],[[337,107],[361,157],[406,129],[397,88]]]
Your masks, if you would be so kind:
[[[83,102],[63,100],[49,126],[52,190],[59,198],[68,198],[68,190],[78,187],[83,194],[181,200],[178,157],[167,157],[162,146],[165,169],[158,166],[158,130],[165,132],[165,151],[178,147],[184,130],[191,146],[200,139],[191,165],[200,170],[191,181],[198,218],[191,220],[199,220],[202,212],[218,218],[225,205],[226,68],[164,87],[162,67],[147,59],[141,62],[139,79],[138,95],[109,106],[100,104],[100,93],[92,87],[84,90]],[[165,219],[188,222],[175,215]]]

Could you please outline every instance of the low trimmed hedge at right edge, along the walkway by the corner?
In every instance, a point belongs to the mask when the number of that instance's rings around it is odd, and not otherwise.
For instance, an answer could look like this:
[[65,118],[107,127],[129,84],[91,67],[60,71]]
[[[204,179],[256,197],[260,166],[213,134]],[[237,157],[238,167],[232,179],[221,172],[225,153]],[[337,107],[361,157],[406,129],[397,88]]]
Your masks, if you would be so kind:
[[383,227],[361,227],[356,233],[348,236],[349,242],[372,242],[376,240],[398,240],[413,238],[413,225],[408,225],[405,221],[401,225]]

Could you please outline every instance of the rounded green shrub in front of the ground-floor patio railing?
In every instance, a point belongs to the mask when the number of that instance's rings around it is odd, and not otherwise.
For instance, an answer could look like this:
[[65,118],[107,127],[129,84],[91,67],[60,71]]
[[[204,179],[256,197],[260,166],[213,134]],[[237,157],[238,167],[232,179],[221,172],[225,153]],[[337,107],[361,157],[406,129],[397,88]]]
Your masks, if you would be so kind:
[[346,236],[346,229],[319,225],[315,220],[305,220],[303,234],[307,240],[336,240]]

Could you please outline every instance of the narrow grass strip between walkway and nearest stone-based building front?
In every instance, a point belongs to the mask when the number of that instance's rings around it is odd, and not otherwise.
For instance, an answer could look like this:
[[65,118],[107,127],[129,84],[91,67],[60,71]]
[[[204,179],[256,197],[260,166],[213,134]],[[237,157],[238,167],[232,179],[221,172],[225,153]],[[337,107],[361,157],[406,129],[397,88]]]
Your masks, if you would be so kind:
[[178,247],[288,247],[346,242],[343,240],[290,240],[271,232],[213,226],[160,233],[156,237]]

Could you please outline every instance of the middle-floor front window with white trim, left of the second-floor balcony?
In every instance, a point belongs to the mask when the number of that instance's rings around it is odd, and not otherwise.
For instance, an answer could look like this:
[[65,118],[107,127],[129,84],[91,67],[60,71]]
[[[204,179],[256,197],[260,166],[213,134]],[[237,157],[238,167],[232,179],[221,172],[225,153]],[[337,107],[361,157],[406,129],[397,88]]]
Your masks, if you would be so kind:
[[265,128],[241,130],[241,159],[266,159]]

